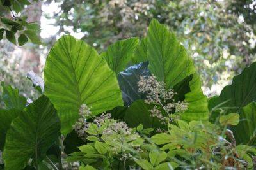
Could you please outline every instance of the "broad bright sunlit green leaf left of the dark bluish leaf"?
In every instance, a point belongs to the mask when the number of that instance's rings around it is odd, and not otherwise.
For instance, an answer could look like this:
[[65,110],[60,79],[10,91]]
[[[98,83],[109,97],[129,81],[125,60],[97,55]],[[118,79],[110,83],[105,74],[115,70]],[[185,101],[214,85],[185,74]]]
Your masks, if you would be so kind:
[[45,95],[58,110],[63,134],[72,130],[81,104],[87,104],[94,115],[123,105],[115,73],[106,60],[72,36],[63,36],[52,47],[44,80]]

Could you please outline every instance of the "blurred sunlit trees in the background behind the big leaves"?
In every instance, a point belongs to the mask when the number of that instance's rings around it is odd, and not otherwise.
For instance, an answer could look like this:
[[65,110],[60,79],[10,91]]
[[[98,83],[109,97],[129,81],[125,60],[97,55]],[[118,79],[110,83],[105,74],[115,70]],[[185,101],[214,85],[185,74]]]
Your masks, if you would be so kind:
[[[255,60],[255,1],[47,0],[29,1],[30,4],[24,3],[25,1],[17,2],[20,8],[17,8],[17,3],[8,4],[7,0],[1,1],[0,8],[3,9],[3,13],[0,14],[0,27],[5,29],[3,39],[14,41],[13,36],[11,40],[10,35],[6,37],[6,30],[12,32],[13,25],[6,25],[3,18],[13,22],[20,22],[19,18],[22,18],[26,21],[23,23],[23,30],[14,30],[13,34],[17,39],[17,45],[27,41],[31,43],[19,48],[4,40],[0,41],[4,46],[10,46],[0,50],[0,65],[9,66],[8,70],[1,67],[0,78],[10,83],[14,81],[13,84],[29,97],[35,94],[26,87],[29,82],[24,78],[26,73],[31,69],[37,74],[42,73],[47,55],[45,49],[49,49],[61,34],[78,35],[102,52],[118,39],[145,36],[152,18],[168,25],[169,29],[177,34],[198,67],[207,95],[219,94],[222,87],[230,83],[235,74],[241,73],[244,67]],[[29,13],[31,10],[35,13]],[[45,20],[51,21],[48,23],[54,25],[57,31],[45,29]],[[41,38],[42,43],[39,39],[33,39],[36,36],[30,39],[29,34],[24,33],[36,33],[35,27],[32,27],[32,31],[26,31],[29,29],[26,23],[34,22],[41,24],[41,36],[44,35]],[[18,40],[22,34],[27,40],[23,37],[19,44]],[[15,55],[17,48],[22,50],[22,56]],[[23,64],[26,63],[24,60],[29,60],[31,64]],[[23,76],[16,76],[16,79],[11,80],[8,74]]]

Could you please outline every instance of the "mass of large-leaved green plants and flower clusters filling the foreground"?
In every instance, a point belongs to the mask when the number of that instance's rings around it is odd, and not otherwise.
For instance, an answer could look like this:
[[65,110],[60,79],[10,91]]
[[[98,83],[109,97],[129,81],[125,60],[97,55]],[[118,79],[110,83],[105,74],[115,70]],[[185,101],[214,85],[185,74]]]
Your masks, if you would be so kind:
[[19,90],[2,84],[3,167],[253,169],[255,69],[207,99],[184,46],[155,19],[146,38],[100,55],[63,36],[47,56],[44,88],[35,85],[41,97],[24,106]]

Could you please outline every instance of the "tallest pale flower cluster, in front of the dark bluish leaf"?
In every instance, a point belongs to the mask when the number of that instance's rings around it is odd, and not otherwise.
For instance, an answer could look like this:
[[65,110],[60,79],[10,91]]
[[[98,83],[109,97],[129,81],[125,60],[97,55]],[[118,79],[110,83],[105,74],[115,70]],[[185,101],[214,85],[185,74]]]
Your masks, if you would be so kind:
[[156,76],[148,76],[144,78],[140,76],[140,81],[138,81],[138,92],[147,94],[145,103],[156,104],[150,113],[152,117],[157,117],[161,122],[166,120],[162,115],[161,111],[157,106],[161,106],[168,115],[170,113],[179,112],[182,113],[188,109],[188,103],[186,101],[175,101],[175,92],[173,89],[166,90],[164,82],[158,82]]

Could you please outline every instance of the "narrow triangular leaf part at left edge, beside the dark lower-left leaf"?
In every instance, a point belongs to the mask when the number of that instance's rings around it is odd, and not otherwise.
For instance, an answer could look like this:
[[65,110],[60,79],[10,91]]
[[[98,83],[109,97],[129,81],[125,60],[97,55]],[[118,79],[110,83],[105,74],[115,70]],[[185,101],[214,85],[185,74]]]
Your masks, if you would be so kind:
[[12,120],[18,117],[20,113],[21,111],[17,109],[0,109],[0,150],[4,148],[6,132],[10,128]]

